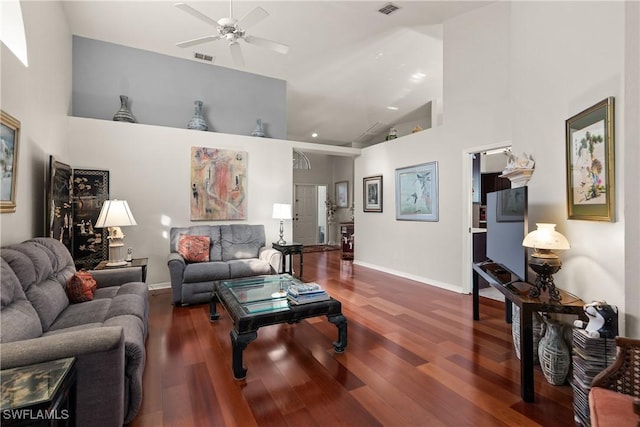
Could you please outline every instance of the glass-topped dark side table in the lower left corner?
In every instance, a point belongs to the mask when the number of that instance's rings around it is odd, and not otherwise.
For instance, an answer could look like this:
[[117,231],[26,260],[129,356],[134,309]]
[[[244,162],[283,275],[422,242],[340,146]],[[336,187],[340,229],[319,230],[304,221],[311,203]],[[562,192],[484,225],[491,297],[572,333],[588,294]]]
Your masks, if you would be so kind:
[[75,426],[76,359],[0,371],[2,425]]

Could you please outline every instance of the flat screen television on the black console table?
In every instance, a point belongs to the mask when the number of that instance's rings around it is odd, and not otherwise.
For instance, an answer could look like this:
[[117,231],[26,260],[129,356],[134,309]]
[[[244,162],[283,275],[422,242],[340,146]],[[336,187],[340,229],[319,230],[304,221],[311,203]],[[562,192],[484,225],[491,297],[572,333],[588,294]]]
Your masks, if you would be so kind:
[[527,280],[527,187],[487,193],[487,257]]

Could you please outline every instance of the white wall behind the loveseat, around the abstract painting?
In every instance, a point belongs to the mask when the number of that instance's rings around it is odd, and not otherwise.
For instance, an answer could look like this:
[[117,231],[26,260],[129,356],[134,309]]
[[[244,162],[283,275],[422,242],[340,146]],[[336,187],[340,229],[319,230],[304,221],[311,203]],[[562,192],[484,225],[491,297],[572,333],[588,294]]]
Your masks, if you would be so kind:
[[[292,200],[292,149],[289,141],[215,132],[198,132],[108,120],[68,118],[73,168],[108,170],[111,198],[124,199],[137,226],[123,229],[134,256],[148,257],[147,282],[169,282],[170,227],[225,222],[190,221],[192,146],[248,152],[246,223],[264,224],[267,243],[278,240],[274,203]],[[236,221],[237,222],[237,221]],[[291,227],[285,229],[291,240]]]

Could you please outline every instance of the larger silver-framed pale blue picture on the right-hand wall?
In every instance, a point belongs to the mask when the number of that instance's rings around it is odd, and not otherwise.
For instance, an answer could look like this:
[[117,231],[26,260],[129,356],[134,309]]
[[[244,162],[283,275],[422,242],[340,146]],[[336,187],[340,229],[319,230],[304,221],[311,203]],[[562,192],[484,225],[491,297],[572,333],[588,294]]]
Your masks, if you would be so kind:
[[396,219],[438,221],[438,162],[396,169]]

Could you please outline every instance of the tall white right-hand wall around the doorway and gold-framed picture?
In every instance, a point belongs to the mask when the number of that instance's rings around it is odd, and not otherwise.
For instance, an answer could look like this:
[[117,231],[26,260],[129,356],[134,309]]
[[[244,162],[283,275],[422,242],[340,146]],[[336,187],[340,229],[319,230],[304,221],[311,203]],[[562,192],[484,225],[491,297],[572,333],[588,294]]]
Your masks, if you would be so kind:
[[[627,225],[624,201],[631,184],[625,186],[624,177],[638,160],[637,151],[625,160],[625,122],[637,122],[637,101],[633,118],[625,111],[626,98],[638,96],[637,84],[628,83],[636,93],[625,93],[625,56],[635,58],[637,66],[638,48],[625,50],[625,34],[631,39],[637,29],[625,33],[624,12],[622,2],[499,2],[445,22],[443,126],[365,148],[356,160],[356,181],[384,175],[384,212],[356,211],[358,229],[372,230],[357,233],[356,263],[462,291],[470,275],[463,247],[469,209],[464,191],[470,183],[462,178],[470,176],[464,171],[470,165],[462,153],[511,141],[515,153],[536,160],[529,183],[530,228],[536,221],[555,222],[572,245],[562,255],[558,285],[586,301],[606,299],[637,321],[637,293],[634,307],[625,306],[625,229],[637,236],[638,209],[636,203]],[[616,97],[617,219],[568,221],[564,123],[607,96]],[[395,169],[434,160],[440,170],[440,221],[395,221]],[[356,188],[356,200],[361,193]],[[635,250],[637,257],[637,245]],[[637,276],[626,285],[637,287]]]

